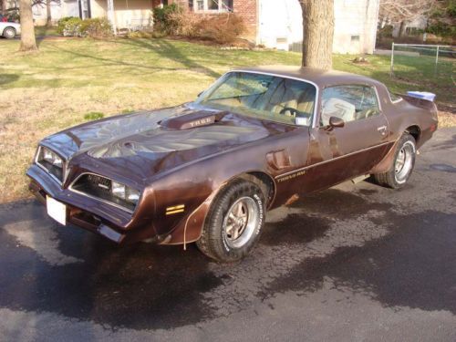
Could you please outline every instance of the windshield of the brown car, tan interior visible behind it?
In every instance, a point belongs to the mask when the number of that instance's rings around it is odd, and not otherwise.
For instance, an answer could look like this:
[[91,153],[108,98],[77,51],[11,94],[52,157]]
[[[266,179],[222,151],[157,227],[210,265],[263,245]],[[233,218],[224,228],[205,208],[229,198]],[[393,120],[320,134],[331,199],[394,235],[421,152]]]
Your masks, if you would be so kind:
[[230,72],[196,103],[213,109],[288,124],[310,126],[316,87],[306,81],[249,72]]

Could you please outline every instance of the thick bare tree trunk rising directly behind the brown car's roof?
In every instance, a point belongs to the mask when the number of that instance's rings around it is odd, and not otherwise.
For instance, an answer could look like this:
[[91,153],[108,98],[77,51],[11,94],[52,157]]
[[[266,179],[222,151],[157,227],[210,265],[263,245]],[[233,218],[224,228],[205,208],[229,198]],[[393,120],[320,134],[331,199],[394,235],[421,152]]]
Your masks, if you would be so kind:
[[333,66],[334,0],[300,0],[303,8],[303,67]]

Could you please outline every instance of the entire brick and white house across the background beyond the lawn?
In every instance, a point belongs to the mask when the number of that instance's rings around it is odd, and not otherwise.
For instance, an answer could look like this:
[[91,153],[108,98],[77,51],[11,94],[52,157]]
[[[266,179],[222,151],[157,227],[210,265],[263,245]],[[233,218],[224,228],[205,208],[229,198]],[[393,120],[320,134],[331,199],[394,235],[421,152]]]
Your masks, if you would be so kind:
[[[18,0],[12,0],[18,1]],[[372,54],[375,49],[380,0],[334,0],[333,50],[342,54]],[[53,19],[107,16],[117,29],[152,25],[152,9],[177,3],[203,16],[235,13],[244,19],[244,37],[257,45],[301,51],[303,16],[298,0],[61,0]],[[46,7],[35,8],[36,24],[46,23]]]

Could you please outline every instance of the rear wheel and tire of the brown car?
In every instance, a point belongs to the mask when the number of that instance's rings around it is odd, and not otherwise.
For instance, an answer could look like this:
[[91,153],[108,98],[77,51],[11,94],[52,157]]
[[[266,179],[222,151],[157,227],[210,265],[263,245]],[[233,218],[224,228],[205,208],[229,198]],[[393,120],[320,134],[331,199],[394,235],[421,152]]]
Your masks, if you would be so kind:
[[[389,168],[389,171],[374,174],[374,180],[379,185],[391,189],[403,187],[407,181],[409,181],[411,172],[415,166],[416,153],[417,147],[415,139],[408,132],[405,132],[398,141],[396,150],[394,151],[393,163]],[[399,169],[398,164],[400,165],[400,162],[398,160],[401,160],[404,154],[406,154],[406,157],[403,157],[404,162],[402,168]],[[403,169],[404,167],[407,167],[407,169]]]

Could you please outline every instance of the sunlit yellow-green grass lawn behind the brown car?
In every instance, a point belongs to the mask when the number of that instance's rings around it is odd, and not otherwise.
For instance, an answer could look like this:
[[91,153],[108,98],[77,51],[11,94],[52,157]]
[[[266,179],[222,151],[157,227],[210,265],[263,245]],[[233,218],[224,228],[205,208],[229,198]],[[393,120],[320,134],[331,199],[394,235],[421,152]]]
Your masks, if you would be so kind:
[[[168,39],[45,39],[39,53],[16,52],[18,41],[0,43],[0,202],[25,198],[24,172],[36,143],[48,134],[119,112],[157,109],[192,100],[233,67],[299,65],[297,53],[222,50]],[[377,78],[391,90],[430,90],[454,105],[451,78],[426,76],[417,61],[396,66],[389,57],[337,55],[334,67]],[[451,75],[449,72],[449,75]]]

